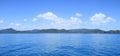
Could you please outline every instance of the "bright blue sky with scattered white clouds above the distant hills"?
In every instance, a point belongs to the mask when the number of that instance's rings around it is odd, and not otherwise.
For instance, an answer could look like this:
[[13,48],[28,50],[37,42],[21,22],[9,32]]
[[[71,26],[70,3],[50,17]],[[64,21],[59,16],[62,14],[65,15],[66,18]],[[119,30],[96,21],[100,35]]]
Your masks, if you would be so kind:
[[119,29],[119,0],[0,0],[0,29]]

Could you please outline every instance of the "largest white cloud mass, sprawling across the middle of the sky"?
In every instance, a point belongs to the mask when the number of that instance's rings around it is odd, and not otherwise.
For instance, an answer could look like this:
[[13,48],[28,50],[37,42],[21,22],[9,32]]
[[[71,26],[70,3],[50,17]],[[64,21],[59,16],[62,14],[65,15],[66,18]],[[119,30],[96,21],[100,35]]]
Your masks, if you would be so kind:
[[61,18],[52,12],[39,14],[37,18],[50,21],[49,24],[46,24],[47,27],[59,29],[79,28],[82,23],[78,17]]

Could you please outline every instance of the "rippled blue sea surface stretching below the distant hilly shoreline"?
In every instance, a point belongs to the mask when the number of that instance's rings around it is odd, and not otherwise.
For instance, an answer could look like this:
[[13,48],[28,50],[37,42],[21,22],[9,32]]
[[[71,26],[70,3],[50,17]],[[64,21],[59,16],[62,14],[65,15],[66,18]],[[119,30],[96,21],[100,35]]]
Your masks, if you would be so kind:
[[0,34],[0,56],[120,56],[120,34]]

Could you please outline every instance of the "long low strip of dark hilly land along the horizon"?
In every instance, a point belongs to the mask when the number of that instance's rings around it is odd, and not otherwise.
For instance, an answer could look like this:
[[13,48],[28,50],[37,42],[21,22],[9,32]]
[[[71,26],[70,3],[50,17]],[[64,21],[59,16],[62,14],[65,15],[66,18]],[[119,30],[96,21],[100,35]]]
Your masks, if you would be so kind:
[[120,30],[109,30],[104,31],[100,29],[34,29],[34,30],[24,30],[19,31],[13,28],[2,29],[0,30],[0,34],[4,33],[109,33],[109,34],[120,34]]

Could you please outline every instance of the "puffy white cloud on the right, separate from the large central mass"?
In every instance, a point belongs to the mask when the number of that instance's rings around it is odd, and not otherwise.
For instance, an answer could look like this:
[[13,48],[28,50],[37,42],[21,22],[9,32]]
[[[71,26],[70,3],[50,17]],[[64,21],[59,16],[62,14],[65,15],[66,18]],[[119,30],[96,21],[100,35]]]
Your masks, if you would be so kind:
[[115,19],[111,17],[107,17],[103,13],[96,13],[90,18],[91,22],[94,24],[102,24],[102,23],[108,23],[108,22],[114,22]]

